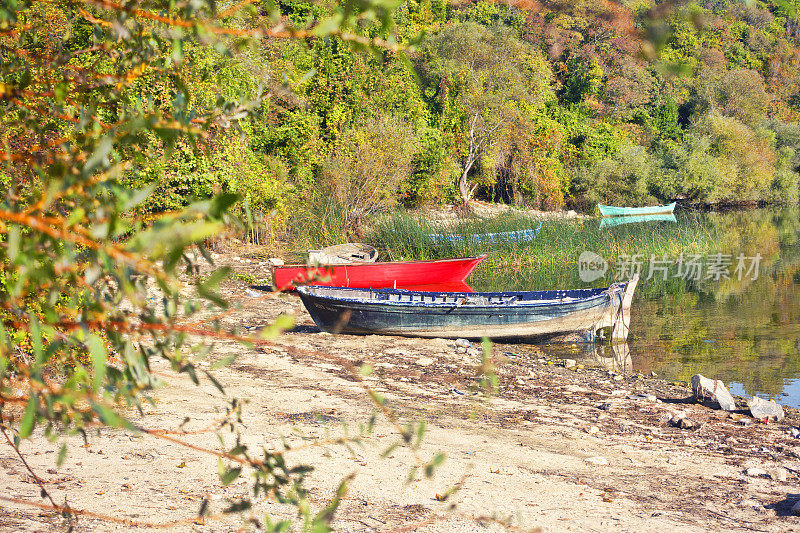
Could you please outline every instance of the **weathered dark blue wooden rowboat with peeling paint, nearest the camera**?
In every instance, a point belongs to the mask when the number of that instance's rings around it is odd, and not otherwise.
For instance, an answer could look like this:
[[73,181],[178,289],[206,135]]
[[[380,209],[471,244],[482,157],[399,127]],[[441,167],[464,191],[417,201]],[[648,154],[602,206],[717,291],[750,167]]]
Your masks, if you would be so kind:
[[304,286],[297,292],[320,329],[331,333],[442,338],[536,338],[609,327],[627,337],[638,277],[602,289],[526,292],[420,292]]

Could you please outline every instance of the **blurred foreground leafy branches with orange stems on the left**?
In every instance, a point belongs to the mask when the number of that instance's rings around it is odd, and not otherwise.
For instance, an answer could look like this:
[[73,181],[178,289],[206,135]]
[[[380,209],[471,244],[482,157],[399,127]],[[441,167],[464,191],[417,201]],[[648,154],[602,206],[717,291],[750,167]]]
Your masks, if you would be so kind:
[[[256,131],[248,116],[268,112],[275,87],[240,66],[261,37],[336,38],[357,49],[397,51],[394,7],[345,1],[292,24],[279,5],[246,2],[229,9],[158,0],[0,6],[0,176],[7,184],[0,198],[0,432],[21,457],[22,440],[47,438],[62,440],[63,461],[67,436],[88,438],[103,427],[164,438],[124,416],[151,401],[160,383],[156,360],[222,391],[197,366],[208,341],[265,342],[218,320],[198,321],[229,306],[218,292],[227,269],[212,263],[203,277],[198,269],[211,263],[204,241],[237,227],[231,191],[245,197],[238,209],[280,214],[291,190],[291,161],[250,142]],[[313,133],[314,120],[301,123]],[[314,135],[301,137],[302,145]],[[279,321],[265,335],[290,325]],[[373,399],[398,431],[395,446],[410,448],[415,468],[429,475],[443,457],[420,458],[424,425],[400,426],[383,400]],[[220,435],[219,449],[171,439],[218,458],[221,484],[242,476],[251,484],[225,507],[205,500],[190,522],[241,513],[268,498],[291,505],[302,529],[330,530],[347,480],[314,511],[304,488],[308,466],[290,464],[283,450],[242,444],[242,405],[231,398],[212,428],[234,437]],[[39,488],[44,508],[67,518],[86,513]],[[292,527],[269,517],[252,525]]]

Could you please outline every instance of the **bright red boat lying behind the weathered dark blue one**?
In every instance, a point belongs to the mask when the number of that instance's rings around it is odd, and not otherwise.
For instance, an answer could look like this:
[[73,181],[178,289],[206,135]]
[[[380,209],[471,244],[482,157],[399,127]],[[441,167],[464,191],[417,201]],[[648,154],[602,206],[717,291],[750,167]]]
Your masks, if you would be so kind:
[[[386,263],[353,263],[348,265],[275,267],[275,287],[280,291],[293,290],[296,285],[327,285],[360,289],[426,288],[464,291],[464,282],[478,263],[486,259],[437,259],[433,261],[392,261]],[[444,289],[443,289],[444,287]],[[471,289],[469,289],[471,291]]]

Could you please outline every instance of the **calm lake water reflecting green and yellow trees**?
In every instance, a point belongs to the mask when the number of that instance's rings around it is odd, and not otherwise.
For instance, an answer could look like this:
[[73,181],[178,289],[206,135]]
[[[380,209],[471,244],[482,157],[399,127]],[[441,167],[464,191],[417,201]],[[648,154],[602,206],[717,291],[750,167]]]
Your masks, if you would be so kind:
[[[592,223],[599,225],[599,221]],[[700,274],[691,270],[690,257],[657,257],[660,261],[653,264],[653,276],[648,280],[650,258],[643,258],[643,279],[634,298],[627,346],[590,349],[591,353],[583,355],[607,366],[647,374],[654,371],[668,379],[686,381],[701,373],[723,380],[735,394],[773,397],[784,405],[800,407],[798,209],[683,212],[678,213],[677,222],[651,223],[647,229],[638,223],[602,231],[617,232],[616,237],[623,240],[641,239],[643,231],[667,231],[667,224],[685,225],[713,237],[707,239],[712,243],[708,250],[694,258]],[[590,251],[608,262],[606,275],[593,283],[580,279],[580,251],[575,262],[564,265],[558,275],[530,272],[508,277],[476,272],[470,282],[476,290],[533,290],[554,284],[603,286],[625,277],[622,271],[630,271],[638,263],[630,257],[608,257],[605,250]],[[742,264],[737,271],[740,254]],[[755,260],[758,254],[760,259]],[[754,261],[758,262],[757,275],[754,270],[747,272]],[[719,272],[727,273],[728,278]],[[511,279],[513,287],[509,286]],[[549,349],[554,355],[569,350],[563,346]]]

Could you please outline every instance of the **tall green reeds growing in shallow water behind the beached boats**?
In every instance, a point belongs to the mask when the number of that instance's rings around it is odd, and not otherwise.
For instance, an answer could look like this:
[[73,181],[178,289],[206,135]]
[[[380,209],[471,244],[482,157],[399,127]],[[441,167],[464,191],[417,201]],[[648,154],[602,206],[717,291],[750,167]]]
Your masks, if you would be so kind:
[[[534,229],[543,221],[539,235],[526,242],[470,239],[483,233]],[[539,219],[508,214],[492,219],[470,219],[445,227],[408,213],[394,213],[374,221],[367,242],[390,260],[438,259],[488,254],[468,279],[476,290],[542,290],[587,286],[579,278],[578,257],[593,251],[609,263],[609,274],[593,285],[614,278],[617,260],[641,254],[676,259],[679,254],[706,254],[719,242],[713,226],[700,215],[683,213],[678,222],[650,222],[600,229],[598,219]],[[431,234],[465,237],[436,243]],[[646,274],[646,272],[645,272]]]

